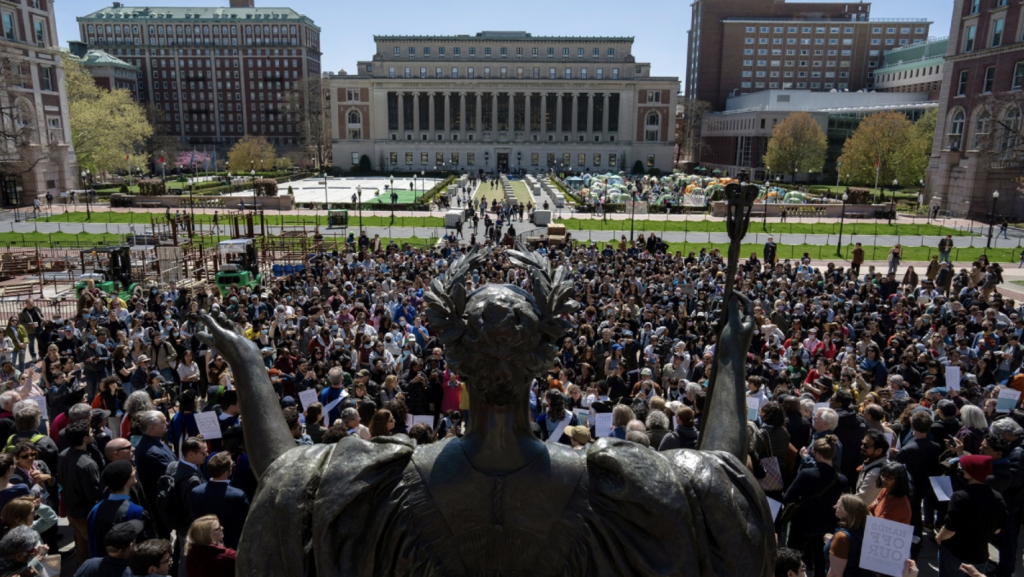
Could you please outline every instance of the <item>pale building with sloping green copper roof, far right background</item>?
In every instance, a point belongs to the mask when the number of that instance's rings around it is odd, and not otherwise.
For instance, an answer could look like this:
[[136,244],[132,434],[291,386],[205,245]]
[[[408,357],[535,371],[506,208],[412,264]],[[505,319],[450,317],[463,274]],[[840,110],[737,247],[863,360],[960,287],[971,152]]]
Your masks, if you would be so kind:
[[925,92],[929,100],[938,100],[942,87],[948,38],[937,38],[886,53],[885,63],[874,71],[874,89],[879,92]]

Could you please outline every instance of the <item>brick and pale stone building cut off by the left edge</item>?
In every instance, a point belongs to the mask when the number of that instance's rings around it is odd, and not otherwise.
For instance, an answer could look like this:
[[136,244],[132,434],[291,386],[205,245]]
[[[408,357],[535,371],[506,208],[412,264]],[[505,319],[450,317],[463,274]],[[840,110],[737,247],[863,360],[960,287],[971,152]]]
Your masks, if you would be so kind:
[[[0,159],[0,204],[28,206],[79,183],[71,145],[63,58],[51,0],[0,3],[0,105],[7,148]],[[7,112],[9,111],[9,112]]]

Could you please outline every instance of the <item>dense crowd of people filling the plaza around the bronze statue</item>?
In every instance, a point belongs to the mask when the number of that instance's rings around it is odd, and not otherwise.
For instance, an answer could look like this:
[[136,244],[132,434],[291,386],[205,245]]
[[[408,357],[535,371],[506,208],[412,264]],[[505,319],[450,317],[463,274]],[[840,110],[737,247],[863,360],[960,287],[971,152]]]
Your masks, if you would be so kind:
[[[90,284],[73,318],[27,301],[0,341],[0,575],[55,551],[58,517],[77,575],[233,574],[257,482],[230,367],[197,336],[201,310],[220,308],[259,348],[297,445],[464,435],[469,389],[446,366],[424,295],[468,246],[401,249],[361,235],[256,290],[172,284],[124,298]],[[581,303],[530,383],[541,440],[699,446],[726,262],[666,246],[641,235],[536,247],[567,267]],[[529,288],[504,247],[482,249],[490,257],[467,289]],[[912,557],[933,539],[942,576],[1013,575],[1024,411],[997,398],[1024,390],[1024,310],[984,275],[942,290],[859,264],[780,261],[773,244],[763,256],[740,263],[735,291],[756,322],[746,465],[783,504],[776,574],[859,574],[876,516],[913,526]],[[217,415],[219,439],[200,435],[201,412]],[[949,478],[949,500],[935,477]],[[989,543],[997,567],[986,568]]]

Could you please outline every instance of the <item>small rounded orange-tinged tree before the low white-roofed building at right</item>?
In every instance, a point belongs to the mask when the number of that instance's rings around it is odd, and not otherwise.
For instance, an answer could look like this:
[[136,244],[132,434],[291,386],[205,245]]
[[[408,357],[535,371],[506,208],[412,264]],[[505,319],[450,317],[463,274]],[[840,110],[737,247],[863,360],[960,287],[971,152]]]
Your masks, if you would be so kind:
[[827,149],[821,126],[810,114],[798,112],[775,125],[764,163],[772,172],[794,176],[798,172],[820,172]]

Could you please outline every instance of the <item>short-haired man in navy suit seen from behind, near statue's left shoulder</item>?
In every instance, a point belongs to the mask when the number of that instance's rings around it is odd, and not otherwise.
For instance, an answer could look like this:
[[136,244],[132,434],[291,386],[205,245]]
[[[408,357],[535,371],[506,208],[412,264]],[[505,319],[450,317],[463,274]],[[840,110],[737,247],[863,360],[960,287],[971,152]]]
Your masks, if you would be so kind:
[[249,514],[249,497],[237,487],[230,486],[234,463],[230,453],[222,451],[210,457],[206,471],[210,481],[191,491],[190,512],[193,519],[204,514],[215,514],[224,528],[224,546],[239,548],[242,527]]

